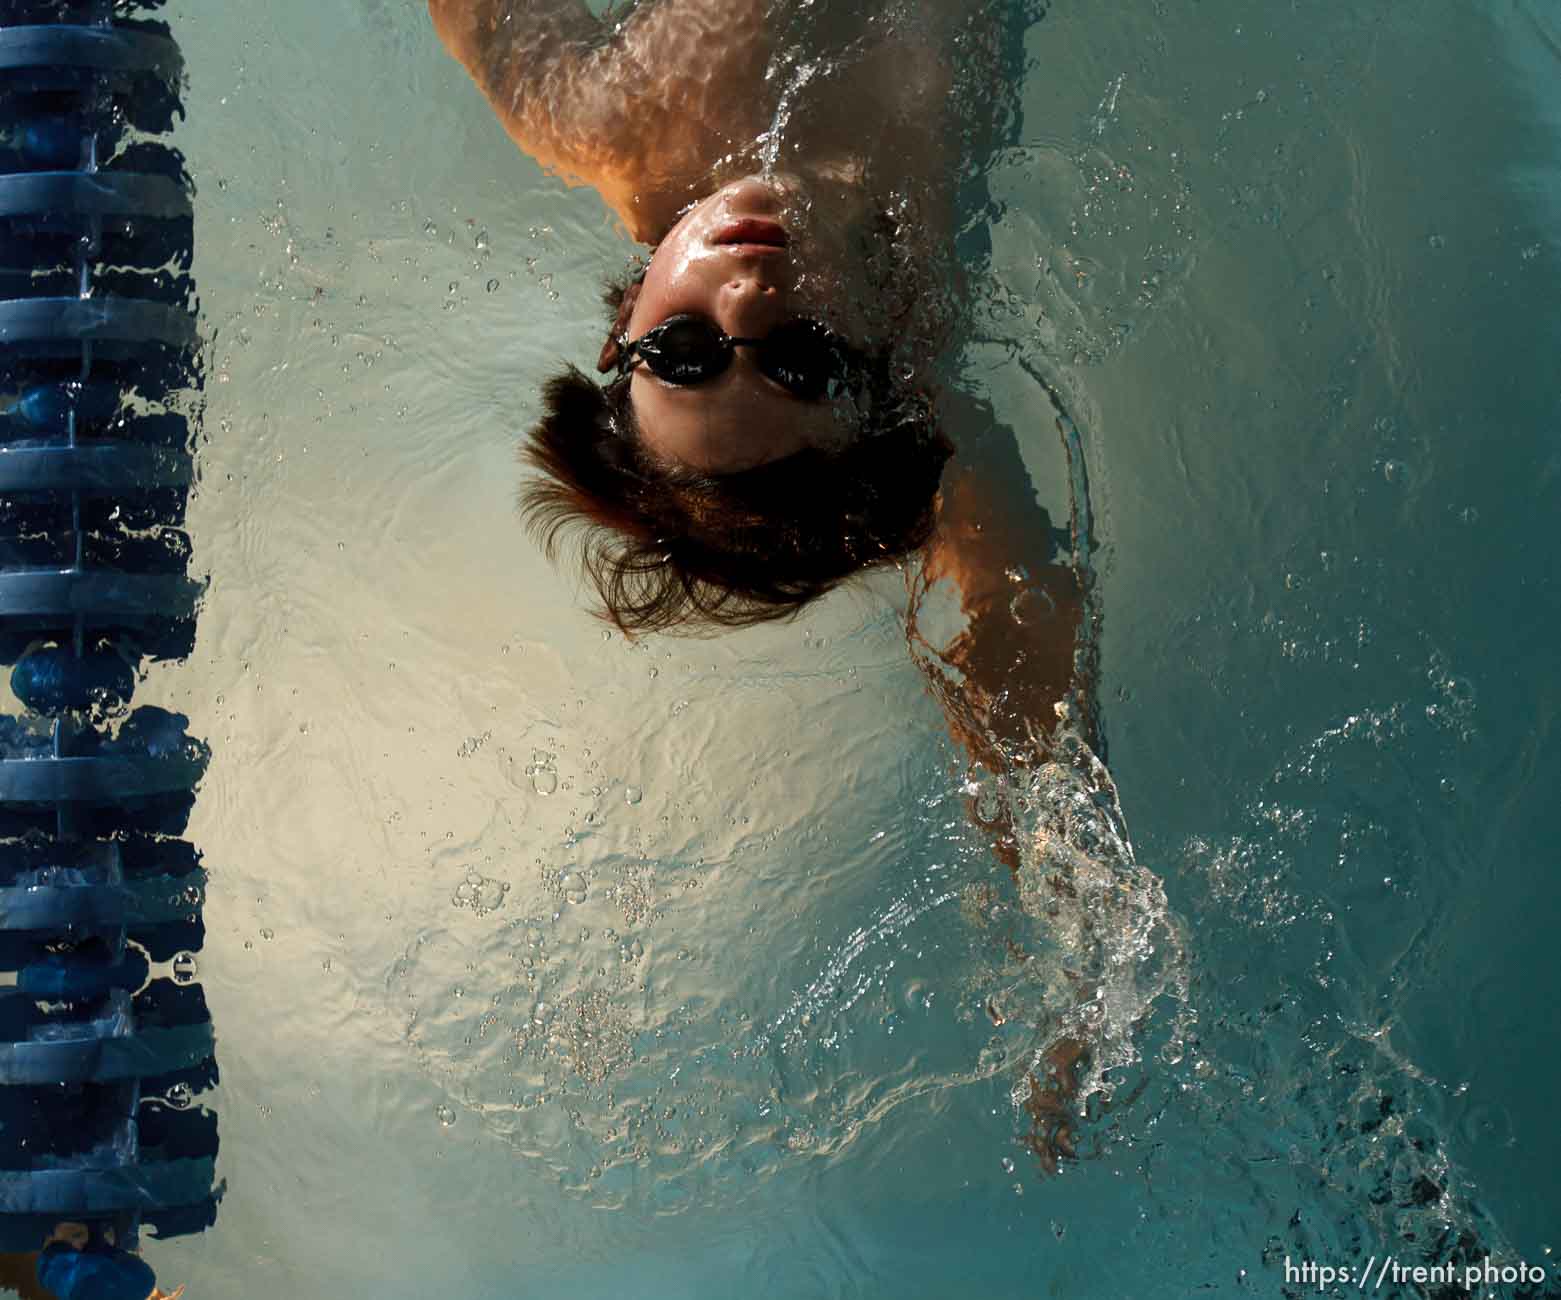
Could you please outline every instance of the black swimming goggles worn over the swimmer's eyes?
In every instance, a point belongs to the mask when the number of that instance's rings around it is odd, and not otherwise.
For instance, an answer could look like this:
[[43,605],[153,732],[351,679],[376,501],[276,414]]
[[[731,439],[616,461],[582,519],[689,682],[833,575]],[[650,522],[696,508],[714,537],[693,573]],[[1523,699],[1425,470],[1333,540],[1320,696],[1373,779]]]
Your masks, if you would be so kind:
[[798,318],[777,325],[763,339],[734,339],[699,315],[674,315],[632,342],[620,336],[618,373],[634,359],[668,384],[702,384],[721,375],[737,348],[754,348],[759,373],[802,401],[835,396],[859,370],[855,350],[829,326]]

